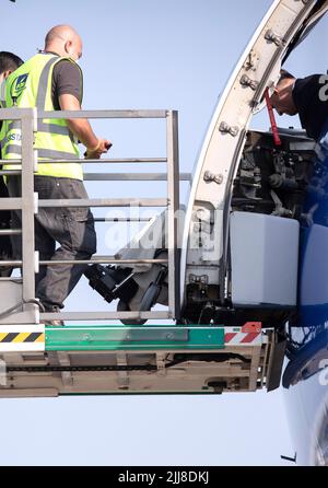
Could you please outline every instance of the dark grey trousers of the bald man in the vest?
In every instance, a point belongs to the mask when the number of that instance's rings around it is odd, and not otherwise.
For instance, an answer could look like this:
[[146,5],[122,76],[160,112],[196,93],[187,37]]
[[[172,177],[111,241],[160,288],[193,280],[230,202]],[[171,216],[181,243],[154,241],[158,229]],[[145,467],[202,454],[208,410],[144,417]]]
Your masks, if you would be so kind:
[[[21,177],[8,182],[11,197],[21,195]],[[35,176],[34,189],[39,199],[87,198],[83,182],[52,176]],[[21,228],[21,212],[12,212],[13,228]],[[56,248],[56,243],[59,247]],[[13,236],[15,258],[22,256],[22,239]],[[44,208],[35,216],[35,248],[40,260],[90,259],[96,252],[93,214],[89,208]],[[75,287],[87,265],[43,266],[36,275],[35,295],[46,311],[63,307],[63,301]]]

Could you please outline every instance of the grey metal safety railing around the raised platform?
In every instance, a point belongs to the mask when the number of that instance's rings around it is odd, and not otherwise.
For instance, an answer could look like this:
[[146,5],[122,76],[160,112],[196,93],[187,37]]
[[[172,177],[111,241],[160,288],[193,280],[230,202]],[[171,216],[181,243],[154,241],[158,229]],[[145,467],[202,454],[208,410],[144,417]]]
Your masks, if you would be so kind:
[[[37,199],[34,193],[34,173],[37,171],[37,155],[34,149],[34,137],[37,131],[38,119],[72,119],[72,118],[92,118],[92,119],[166,119],[166,158],[139,158],[139,159],[102,159],[103,164],[149,164],[166,163],[165,173],[86,173],[85,181],[167,181],[167,198],[95,198],[95,199]],[[21,175],[22,176],[22,197],[21,198],[1,198],[0,210],[22,210],[22,230],[8,229],[2,230],[1,235],[22,234],[22,259],[21,260],[1,260],[0,266],[12,266],[22,268],[22,278],[2,278],[0,286],[2,297],[7,291],[3,283],[16,282],[22,287],[21,307],[12,313],[3,313],[0,307],[1,323],[35,323],[40,319],[62,318],[68,321],[104,321],[104,319],[163,319],[177,318],[179,316],[179,255],[178,255],[178,222],[177,211],[179,210],[179,182],[190,181],[189,174],[179,175],[178,169],[178,117],[175,111],[80,111],[80,112],[37,112],[34,108],[9,108],[1,109],[1,119],[21,120],[22,124],[22,159],[0,160],[0,164],[14,165],[22,164],[22,170],[0,171],[0,175]],[[44,160],[42,163],[99,163],[99,160]],[[164,207],[167,208],[167,259],[118,259],[114,256],[95,256],[90,260],[43,260],[38,262],[35,253],[34,240],[34,216],[39,208],[54,207],[94,207],[94,208],[115,208],[115,207]],[[106,222],[106,218],[96,218],[96,222]],[[148,222],[149,219],[109,219],[112,222]],[[151,312],[63,312],[60,314],[42,313],[38,314],[38,306],[35,301],[35,272],[39,266],[57,266],[59,264],[113,264],[113,265],[142,265],[142,264],[164,264],[168,267],[168,309],[167,311]],[[74,291],[73,291],[74,292]],[[10,293],[8,289],[8,293]],[[12,299],[13,300],[13,299]],[[12,302],[9,300],[9,303]]]

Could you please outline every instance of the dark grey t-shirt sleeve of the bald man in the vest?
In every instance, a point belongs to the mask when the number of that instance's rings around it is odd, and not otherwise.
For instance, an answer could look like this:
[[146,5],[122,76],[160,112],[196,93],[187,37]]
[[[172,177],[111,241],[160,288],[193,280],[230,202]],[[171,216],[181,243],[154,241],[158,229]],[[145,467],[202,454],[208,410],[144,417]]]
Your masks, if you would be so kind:
[[74,95],[82,103],[82,72],[77,65],[63,59],[52,72],[51,96],[55,111],[60,111],[59,95]]

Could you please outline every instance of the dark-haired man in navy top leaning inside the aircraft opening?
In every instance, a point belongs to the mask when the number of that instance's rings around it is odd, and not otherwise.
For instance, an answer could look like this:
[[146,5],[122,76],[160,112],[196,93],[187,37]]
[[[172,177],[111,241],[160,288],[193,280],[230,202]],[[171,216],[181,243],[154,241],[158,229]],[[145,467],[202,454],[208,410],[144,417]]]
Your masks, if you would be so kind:
[[296,79],[285,70],[271,96],[279,115],[298,115],[301,125],[312,139],[319,141],[328,130],[328,96],[326,74]]

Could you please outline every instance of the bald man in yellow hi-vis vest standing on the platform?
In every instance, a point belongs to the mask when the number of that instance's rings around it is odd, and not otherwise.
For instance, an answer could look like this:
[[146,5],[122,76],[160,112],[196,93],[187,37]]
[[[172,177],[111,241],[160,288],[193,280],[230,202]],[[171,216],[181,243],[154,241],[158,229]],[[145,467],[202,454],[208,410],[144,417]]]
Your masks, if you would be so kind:
[[[80,111],[82,71],[77,61],[82,56],[82,40],[69,25],[52,27],[45,39],[44,51],[33,56],[7,83],[7,104],[37,107],[39,111]],[[4,159],[21,155],[21,131],[15,123],[7,125]],[[86,147],[86,158],[99,159],[112,143],[97,138],[86,119],[38,120],[35,149],[39,160],[79,158],[78,140]],[[13,166],[10,166],[13,169]],[[21,195],[21,178],[10,176],[10,196]],[[39,199],[87,198],[80,163],[38,164],[34,179]],[[21,225],[21,216],[13,212],[13,225]],[[56,249],[56,242],[60,247]],[[21,256],[17,240],[14,252]],[[35,218],[35,247],[40,260],[90,259],[96,252],[94,219],[89,208],[43,208]],[[42,267],[36,276],[36,297],[45,311],[58,312],[75,287],[86,266],[57,265]],[[54,323],[54,325],[58,325]]]

